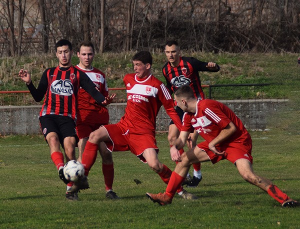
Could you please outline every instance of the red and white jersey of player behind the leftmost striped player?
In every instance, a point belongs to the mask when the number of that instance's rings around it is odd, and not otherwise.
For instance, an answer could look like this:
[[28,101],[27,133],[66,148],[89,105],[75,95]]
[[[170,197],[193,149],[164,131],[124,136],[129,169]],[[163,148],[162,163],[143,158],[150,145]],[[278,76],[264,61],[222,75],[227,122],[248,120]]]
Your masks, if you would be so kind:
[[[78,65],[75,67],[83,71],[89,77],[104,97],[108,96],[108,88],[103,72],[97,68],[87,70],[80,68]],[[97,123],[108,123],[109,116],[107,108],[99,105],[83,88],[80,87],[78,93],[77,123],[95,122],[95,120],[97,120]]]

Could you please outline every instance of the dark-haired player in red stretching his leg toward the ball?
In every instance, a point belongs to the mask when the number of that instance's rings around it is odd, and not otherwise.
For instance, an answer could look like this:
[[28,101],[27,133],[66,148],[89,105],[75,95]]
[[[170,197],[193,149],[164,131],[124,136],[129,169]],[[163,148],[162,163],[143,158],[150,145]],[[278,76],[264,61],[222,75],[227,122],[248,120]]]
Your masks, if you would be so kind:
[[[174,102],[164,84],[151,74],[152,56],[148,51],[140,51],[132,57],[135,73],[127,74],[123,82],[127,91],[125,114],[116,124],[104,125],[91,132],[82,155],[85,175],[95,162],[99,142],[104,141],[110,151],[128,151],[156,172],[167,184],[171,170],[157,157],[155,140],[156,115],[161,105],[178,129],[181,120],[174,110]],[[75,183],[76,190],[88,187],[87,180]],[[176,192],[184,199],[197,199],[181,186]]]

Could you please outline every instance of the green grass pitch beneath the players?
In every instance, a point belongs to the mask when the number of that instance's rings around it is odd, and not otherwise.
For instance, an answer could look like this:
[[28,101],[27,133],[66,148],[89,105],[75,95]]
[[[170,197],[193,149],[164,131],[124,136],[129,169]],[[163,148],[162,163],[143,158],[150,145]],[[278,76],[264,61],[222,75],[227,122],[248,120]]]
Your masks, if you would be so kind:
[[[300,200],[299,134],[281,125],[266,132],[250,132],[254,171],[269,178],[291,198]],[[282,141],[284,139],[284,141]],[[160,161],[171,169],[166,134],[157,135]],[[0,228],[299,228],[300,208],[283,209],[266,193],[241,179],[227,161],[202,164],[199,197],[175,196],[159,206],[145,196],[165,184],[130,152],[113,153],[114,191],[120,200],[105,199],[100,157],[89,175],[90,189],[79,201],[64,198],[48,146],[41,136],[0,137]],[[133,179],[142,183],[136,185]]]

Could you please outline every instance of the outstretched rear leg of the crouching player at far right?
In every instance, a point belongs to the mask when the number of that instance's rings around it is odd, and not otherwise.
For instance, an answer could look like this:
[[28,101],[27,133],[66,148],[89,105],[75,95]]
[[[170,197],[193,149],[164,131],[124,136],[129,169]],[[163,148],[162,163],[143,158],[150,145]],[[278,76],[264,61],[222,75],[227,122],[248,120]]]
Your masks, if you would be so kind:
[[266,178],[257,176],[252,168],[252,164],[247,159],[239,159],[235,162],[236,168],[240,176],[252,185],[257,186],[263,191],[267,192],[269,196],[278,201],[282,207],[297,207],[300,204],[290,199],[285,193],[283,193],[277,186]]

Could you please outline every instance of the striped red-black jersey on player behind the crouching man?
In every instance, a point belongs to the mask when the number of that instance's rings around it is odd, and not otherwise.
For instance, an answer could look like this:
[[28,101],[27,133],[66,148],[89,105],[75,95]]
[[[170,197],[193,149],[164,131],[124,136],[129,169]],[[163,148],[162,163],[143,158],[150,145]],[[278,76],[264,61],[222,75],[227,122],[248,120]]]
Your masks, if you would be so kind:
[[210,70],[206,67],[207,62],[202,62],[193,57],[180,57],[178,66],[172,67],[167,62],[162,68],[162,74],[166,80],[166,87],[172,94],[177,87],[181,85],[189,85],[197,99],[204,99],[204,92],[201,87],[199,71],[215,72],[219,70]]

